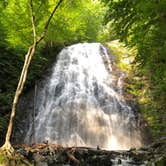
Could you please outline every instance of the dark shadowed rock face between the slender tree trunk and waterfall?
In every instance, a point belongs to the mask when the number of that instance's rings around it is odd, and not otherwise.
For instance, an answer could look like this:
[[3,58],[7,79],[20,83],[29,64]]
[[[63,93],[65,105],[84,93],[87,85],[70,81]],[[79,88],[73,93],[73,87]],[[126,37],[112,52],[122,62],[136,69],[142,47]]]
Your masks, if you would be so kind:
[[[49,75],[49,72],[48,72]],[[14,130],[12,135],[13,144],[23,144],[25,135],[30,127],[33,124],[33,119],[36,116],[35,114],[35,96],[43,88],[46,77],[42,80],[36,82],[36,85],[28,91],[26,94],[23,94],[20,98],[19,104],[17,106],[16,118],[14,122]],[[35,90],[37,88],[37,90]]]

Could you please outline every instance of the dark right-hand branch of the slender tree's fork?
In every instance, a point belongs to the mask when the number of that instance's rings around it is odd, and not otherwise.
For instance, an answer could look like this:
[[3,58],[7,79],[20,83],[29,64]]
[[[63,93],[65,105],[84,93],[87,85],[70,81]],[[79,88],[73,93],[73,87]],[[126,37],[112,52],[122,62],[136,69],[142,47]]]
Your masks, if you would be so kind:
[[56,10],[58,9],[58,7],[60,6],[60,4],[62,3],[63,0],[59,0],[59,2],[57,3],[57,5],[55,6],[54,10],[52,11],[50,17],[48,18],[45,26],[44,26],[44,29],[43,29],[43,32],[40,36],[40,38],[37,40],[36,44],[38,44],[46,35],[46,32],[47,32],[47,29],[48,29],[48,26],[49,26],[49,23],[54,15],[54,13],[56,12]]

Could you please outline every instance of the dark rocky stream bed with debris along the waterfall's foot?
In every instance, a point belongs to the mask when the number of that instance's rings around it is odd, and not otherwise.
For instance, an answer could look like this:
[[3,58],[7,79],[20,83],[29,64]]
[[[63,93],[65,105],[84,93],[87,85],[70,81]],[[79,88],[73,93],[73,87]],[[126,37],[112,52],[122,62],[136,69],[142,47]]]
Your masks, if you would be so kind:
[[[166,138],[128,151],[107,151],[100,147],[62,147],[42,143],[14,146],[16,152],[24,157],[23,165],[35,166],[165,166]],[[28,164],[29,163],[29,164]],[[1,165],[1,164],[0,164]],[[3,164],[2,164],[3,165]],[[11,166],[14,164],[11,164]],[[15,164],[22,165],[22,164]],[[5,166],[5,165],[3,165]]]

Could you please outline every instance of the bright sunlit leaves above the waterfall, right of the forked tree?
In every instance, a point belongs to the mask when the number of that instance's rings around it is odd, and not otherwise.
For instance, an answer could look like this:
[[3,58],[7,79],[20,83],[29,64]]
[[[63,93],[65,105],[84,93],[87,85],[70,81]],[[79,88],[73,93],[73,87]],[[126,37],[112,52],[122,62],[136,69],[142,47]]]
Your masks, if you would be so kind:
[[98,40],[105,8],[91,0],[65,1],[55,15],[47,40],[55,43],[75,43]]

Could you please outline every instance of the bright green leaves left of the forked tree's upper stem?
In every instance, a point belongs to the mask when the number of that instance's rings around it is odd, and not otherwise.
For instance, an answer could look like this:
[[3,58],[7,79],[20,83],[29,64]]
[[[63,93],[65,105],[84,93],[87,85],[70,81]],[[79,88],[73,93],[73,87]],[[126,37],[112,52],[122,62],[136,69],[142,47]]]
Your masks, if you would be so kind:
[[3,10],[3,25],[7,34],[6,41],[13,46],[25,46],[30,41],[30,18],[28,0],[10,0]]

